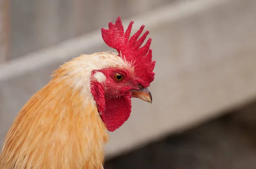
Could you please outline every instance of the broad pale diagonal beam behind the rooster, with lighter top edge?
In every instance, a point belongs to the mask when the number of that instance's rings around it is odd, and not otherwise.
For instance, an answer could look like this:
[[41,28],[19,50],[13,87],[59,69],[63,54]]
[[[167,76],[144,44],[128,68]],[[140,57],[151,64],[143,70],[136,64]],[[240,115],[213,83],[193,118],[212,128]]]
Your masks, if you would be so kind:
[[[153,39],[156,77],[149,89],[154,101],[132,99],[131,117],[110,133],[107,157],[254,99],[255,16],[254,0],[189,0],[132,17],[134,29],[145,24]],[[110,48],[97,29],[2,65],[0,145],[20,108],[47,84],[53,70],[79,54],[105,50]]]

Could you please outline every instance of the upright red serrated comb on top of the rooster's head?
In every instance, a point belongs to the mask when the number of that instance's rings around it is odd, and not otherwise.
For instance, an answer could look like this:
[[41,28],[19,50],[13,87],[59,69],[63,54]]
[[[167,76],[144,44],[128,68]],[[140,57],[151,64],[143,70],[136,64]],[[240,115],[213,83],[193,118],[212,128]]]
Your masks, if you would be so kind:
[[[155,61],[152,62],[152,50],[150,49],[152,39],[149,38],[145,45],[141,47],[149,34],[149,31],[146,31],[140,37],[145,27],[144,25],[130,38],[133,23],[131,21],[127,30],[124,32],[121,17],[118,17],[116,24],[110,22],[108,29],[102,28],[102,38],[109,47],[118,51],[122,59],[134,63],[134,70],[136,77],[139,78],[140,85],[148,87],[154,80],[155,75],[153,72]],[[138,39],[139,37],[140,39]]]

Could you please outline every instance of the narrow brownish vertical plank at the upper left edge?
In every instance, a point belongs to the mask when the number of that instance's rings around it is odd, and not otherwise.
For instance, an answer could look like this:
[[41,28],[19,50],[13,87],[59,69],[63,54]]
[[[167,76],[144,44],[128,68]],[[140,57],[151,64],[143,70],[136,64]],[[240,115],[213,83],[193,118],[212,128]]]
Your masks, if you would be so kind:
[[9,0],[0,0],[0,64],[9,59]]

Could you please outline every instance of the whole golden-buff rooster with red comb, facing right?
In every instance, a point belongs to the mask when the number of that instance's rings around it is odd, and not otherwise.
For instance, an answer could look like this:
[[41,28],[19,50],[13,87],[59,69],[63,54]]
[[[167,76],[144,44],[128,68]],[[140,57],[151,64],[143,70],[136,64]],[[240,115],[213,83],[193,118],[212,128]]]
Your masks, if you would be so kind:
[[[101,169],[108,132],[131,113],[131,98],[151,103],[151,38],[144,25],[130,38],[121,18],[102,28],[116,52],[80,55],[61,65],[22,107],[6,135],[0,169]],[[140,37],[140,38],[139,38]]]

